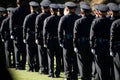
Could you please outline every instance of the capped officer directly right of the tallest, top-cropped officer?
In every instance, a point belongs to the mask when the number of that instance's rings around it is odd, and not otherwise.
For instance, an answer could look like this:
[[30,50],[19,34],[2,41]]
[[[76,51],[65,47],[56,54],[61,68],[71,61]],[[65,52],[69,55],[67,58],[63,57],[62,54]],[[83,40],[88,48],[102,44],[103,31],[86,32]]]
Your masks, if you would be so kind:
[[31,1],[29,5],[31,13],[25,17],[23,23],[23,41],[27,43],[28,71],[33,72],[39,69],[37,45],[35,43],[35,19],[38,15],[39,3]]

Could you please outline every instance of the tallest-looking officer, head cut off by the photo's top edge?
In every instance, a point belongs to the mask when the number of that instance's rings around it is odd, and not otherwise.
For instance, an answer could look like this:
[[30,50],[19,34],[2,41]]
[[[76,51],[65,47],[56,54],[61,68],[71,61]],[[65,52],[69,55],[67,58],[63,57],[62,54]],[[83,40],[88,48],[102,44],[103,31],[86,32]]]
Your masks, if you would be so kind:
[[17,7],[10,16],[10,34],[14,43],[15,67],[24,70],[26,65],[26,45],[23,43],[23,21],[25,16],[29,14],[29,10],[26,8],[25,0],[17,0],[16,3]]

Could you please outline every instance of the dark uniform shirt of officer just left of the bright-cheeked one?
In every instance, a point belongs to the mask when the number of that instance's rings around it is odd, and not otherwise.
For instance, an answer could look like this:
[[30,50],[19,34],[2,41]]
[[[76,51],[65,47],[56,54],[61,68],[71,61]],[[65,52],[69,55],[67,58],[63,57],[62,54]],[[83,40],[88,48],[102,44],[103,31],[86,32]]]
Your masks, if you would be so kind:
[[51,15],[45,19],[43,26],[44,44],[47,43],[47,39],[55,38],[55,37],[57,38],[59,20],[60,17],[57,16],[57,14]]

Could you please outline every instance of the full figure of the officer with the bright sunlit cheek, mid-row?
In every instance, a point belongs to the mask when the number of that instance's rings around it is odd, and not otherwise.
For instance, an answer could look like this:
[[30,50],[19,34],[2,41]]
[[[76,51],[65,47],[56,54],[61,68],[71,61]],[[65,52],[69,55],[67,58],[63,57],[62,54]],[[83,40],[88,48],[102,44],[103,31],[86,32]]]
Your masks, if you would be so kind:
[[63,47],[64,71],[66,80],[77,80],[78,65],[77,57],[73,48],[73,27],[74,22],[79,18],[76,11],[76,4],[65,3],[65,16],[61,17],[58,27],[58,38],[60,46]]

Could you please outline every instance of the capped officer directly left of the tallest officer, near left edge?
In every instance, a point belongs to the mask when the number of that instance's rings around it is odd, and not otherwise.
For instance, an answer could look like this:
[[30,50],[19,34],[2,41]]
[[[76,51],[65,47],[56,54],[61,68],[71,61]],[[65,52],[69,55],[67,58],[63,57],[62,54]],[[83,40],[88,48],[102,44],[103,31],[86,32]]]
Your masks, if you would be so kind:
[[1,24],[1,29],[0,29],[2,41],[4,42],[4,45],[5,45],[6,64],[8,68],[13,67],[15,65],[14,53],[13,53],[13,64],[12,64],[12,59],[11,59],[12,55],[10,51],[10,48],[12,46],[10,45],[11,39],[10,39],[9,20],[10,20],[10,15],[11,15],[12,10],[13,8],[7,8],[8,17],[3,20]]

